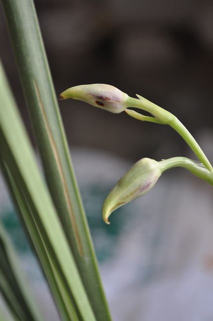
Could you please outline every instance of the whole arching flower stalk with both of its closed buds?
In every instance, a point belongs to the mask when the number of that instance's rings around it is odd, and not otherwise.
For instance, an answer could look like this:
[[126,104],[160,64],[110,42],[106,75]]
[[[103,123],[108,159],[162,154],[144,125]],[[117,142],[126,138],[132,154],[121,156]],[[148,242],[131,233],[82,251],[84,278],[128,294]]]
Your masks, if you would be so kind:
[[[157,162],[154,159],[142,158],[118,181],[107,196],[102,215],[109,224],[109,215],[120,206],[146,194],[155,185],[161,174],[172,167],[183,167],[193,175],[213,185],[213,169],[206,155],[185,126],[169,111],[137,95],[138,99],[111,85],[91,84],[71,87],[60,94],[61,99],[78,99],[93,106],[113,113],[125,111],[131,117],[143,121],[168,124],[175,129],[193,150],[200,163],[185,157],[173,157]],[[144,116],[129,107],[139,108],[151,114]]]

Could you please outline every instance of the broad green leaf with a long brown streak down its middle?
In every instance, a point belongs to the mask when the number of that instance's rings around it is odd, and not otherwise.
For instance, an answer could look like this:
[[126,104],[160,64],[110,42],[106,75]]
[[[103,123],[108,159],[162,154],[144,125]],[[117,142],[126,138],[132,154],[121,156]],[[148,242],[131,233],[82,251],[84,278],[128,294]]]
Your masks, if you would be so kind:
[[[46,180],[97,319],[110,314],[32,0],[1,0]],[[50,161],[51,160],[51,161]]]

